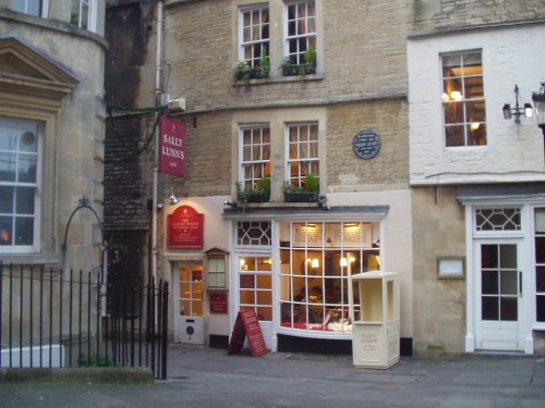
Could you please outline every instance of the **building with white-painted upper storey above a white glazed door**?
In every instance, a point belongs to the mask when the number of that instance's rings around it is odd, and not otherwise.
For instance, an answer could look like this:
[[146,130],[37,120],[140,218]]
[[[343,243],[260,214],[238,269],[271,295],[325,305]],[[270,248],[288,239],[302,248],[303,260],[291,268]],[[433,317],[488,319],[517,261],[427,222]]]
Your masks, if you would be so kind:
[[[417,3],[408,37],[415,353],[543,353],[543,137],[512,110],[544,78],[545,7]],[[464,141],[453,136],[461,121]]]

